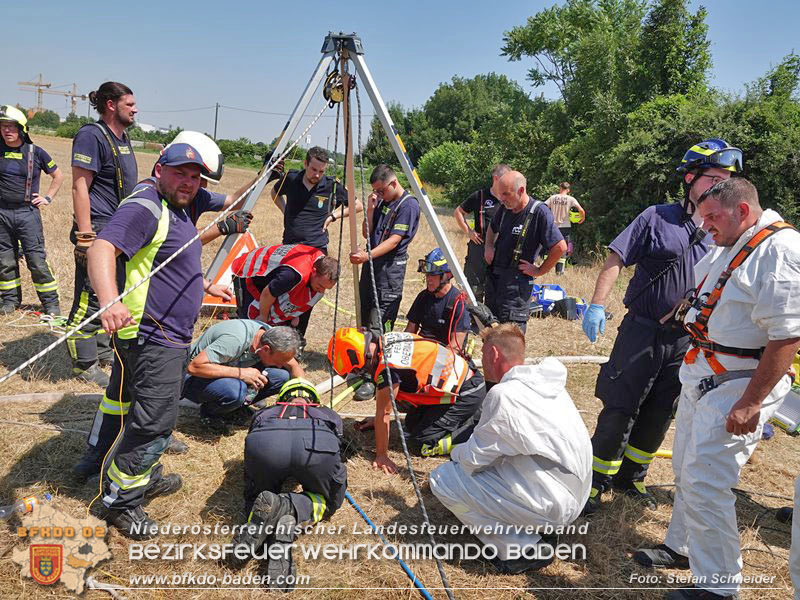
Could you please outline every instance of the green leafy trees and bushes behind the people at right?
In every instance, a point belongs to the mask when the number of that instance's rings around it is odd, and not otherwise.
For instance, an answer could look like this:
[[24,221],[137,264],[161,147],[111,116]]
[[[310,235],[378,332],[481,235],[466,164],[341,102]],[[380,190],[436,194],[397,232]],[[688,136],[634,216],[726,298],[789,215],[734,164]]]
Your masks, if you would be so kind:
[[[534,88],[489,73],[453,77],[421,108],[389,113],[423,181],[452,203],[507,162],[546,198],[570,181],[587,209],[584,250],[607,244],[642,209],[683,197],[675,168],[692,144],[722,137],[742,148],[762,204],[800,222],[800,57],[792,53],[735,93],[709,85],[706,11],[688,0],[567,0],[506,32],[501,55],[531,65]],[[396,163],[373,119],[371,164]]]

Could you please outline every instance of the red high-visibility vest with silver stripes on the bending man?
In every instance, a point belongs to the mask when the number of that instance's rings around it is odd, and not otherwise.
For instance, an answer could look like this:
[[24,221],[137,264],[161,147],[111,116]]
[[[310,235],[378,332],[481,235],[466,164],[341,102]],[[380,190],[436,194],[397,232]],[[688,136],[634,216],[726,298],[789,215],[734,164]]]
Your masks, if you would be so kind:
[[263,277],[278,267],[290,267],[300,275],[300,282],[285,294],[275,298],[267,318],[268,325],[278,325],[299,317],[311,310],[323,296],[315,293],[308,285],[314,263],[325,256],[322,250],[305,244],[289,244],[286,246],[263,246],[238,257],[233,261],[232,270],[236,277],[245,279],[245,285],[254,300],[248,307],[248,317],[258,319],[261,307],[259,290],[253,277]]

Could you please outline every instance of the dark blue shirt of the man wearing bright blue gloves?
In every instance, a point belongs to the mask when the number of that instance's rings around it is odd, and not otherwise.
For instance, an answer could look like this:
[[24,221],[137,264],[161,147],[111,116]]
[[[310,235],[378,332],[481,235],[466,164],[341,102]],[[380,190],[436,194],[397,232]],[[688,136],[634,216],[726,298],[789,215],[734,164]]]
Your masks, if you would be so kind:
[[[694,266],[708,252],[705,241],[687,251],[696,229],[691,219],[684,220],[679,204],[658,204],[639,213],[608,245],[626,267],[636,265],[624,299],[632,313],[658,320],[694,287]],[[668,271],[636,298],[664,269]]]

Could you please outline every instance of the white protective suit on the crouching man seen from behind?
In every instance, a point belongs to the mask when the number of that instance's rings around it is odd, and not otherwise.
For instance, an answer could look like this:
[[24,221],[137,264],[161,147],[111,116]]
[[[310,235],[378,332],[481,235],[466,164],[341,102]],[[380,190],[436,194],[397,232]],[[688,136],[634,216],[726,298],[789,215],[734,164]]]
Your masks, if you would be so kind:
[[[592,443],[556,359],[510,369],[483,401],[472,436],[430,475],[431,491],[466,525],[568,525],[592,486]],[[505,533],[505,531],[504,531]],[[477,536],[497,547],[536,544],[537,533]]]

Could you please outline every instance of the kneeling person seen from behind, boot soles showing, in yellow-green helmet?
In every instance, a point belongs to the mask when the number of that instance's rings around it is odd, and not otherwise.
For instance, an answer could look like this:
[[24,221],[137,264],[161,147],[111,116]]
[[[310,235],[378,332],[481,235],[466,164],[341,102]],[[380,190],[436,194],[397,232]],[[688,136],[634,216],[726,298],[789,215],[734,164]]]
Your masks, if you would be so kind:
[[[320,406],[316,388],[305,379],[286,382],[278,402],[253,418],[244,442],[244,504],[253,527],[238,533],[233,544],[247,545],[257,556],[263,555],[262,544],[284,546],[269,549],[271,588],[289,591],[283,582],[295,573],[291,543],[297,525],[330,519],[344,501],[342,435],[341,417]],[[302,493],[280,493],[290,477]],[[235,556],[229,560],[234,567],[246,562]]]

